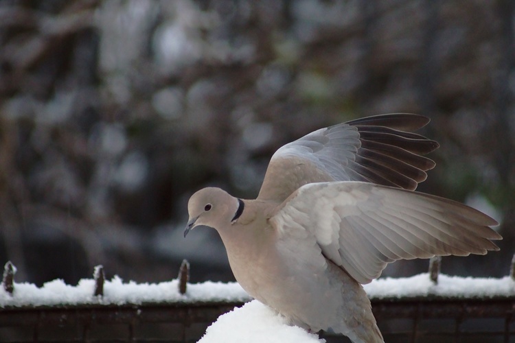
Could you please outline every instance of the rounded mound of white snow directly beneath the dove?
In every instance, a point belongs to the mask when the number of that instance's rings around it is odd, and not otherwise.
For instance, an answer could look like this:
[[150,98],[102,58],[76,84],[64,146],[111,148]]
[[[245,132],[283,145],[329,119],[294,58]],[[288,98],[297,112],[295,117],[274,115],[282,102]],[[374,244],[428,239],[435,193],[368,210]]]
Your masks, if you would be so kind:
[[288,325],[286,318],[252,300],[240,308],[222,314],[207,328],[198,343],[319,343],[318,335]]

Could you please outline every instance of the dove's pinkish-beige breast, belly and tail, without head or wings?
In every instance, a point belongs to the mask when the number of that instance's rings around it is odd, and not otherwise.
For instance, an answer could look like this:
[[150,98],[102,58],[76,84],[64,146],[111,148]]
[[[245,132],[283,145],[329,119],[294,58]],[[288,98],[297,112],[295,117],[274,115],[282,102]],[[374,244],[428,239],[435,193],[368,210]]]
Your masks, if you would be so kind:
[[[255,200],[246,201],[248,206],[252,201]],[[321,250],[314,250],[313,238],[281,233],[270,222],[261,226],[247,222],[249,219],[243,216],[242,220],[249,224],[247,232],[241,224],[233,224],[233,233],[221,237],[236,280],[253,298],[304,329],[336,331],[356,342],[359,340],[354,332],[359,331],[364,342],[376,342],[376,336],[369,332],[379,337],[380,333],[363,286],[325,259]],[[252,232],[257,227],[264,228],[264,234]],[[242,239],[254,244],[242,247],[238,244]],[[312,253],[298,254],[297,250]],[[249,259],[253,261],[250,266]],[[306,270],[316,272],[305,273]]]

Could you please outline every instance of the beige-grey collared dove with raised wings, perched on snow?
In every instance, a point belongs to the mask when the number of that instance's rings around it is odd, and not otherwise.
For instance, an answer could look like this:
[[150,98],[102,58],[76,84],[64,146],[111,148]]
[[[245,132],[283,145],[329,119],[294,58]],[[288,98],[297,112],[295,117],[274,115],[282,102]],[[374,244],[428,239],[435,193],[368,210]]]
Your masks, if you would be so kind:
[[383,342],[362,284],[398,259],[484,255],[502,239],[488,215],[414,191],[438,144],[409,131],[428,121],[365,117],[288,143],[256,200],[194,193],[184,235],[215,228],[238,283],[290,324]]

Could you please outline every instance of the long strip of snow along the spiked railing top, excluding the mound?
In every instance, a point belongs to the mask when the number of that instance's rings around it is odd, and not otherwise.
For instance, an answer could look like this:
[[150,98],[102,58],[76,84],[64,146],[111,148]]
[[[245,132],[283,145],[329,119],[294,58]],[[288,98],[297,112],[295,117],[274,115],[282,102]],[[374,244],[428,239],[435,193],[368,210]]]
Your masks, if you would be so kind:
[[[94,296],[95,280],[82,279],[78,285],[62,280],[49,281],[43,287],[32,283],[14,283],[10,294],[0,289],[0,308],[69,305],[141,305],[146,303],[238,303],[251,297],[238,283],[187,284],[187,292],[179,292],[179,281],[162,283],[124,282],[118,276],[104,282],[103,296]],[[440,274],[438,283],[428,273],[409,278],[378,279],[365,290],[374,299],[412,298],[515,298],[515,281],[510,276],[502,279],[447,276]]]

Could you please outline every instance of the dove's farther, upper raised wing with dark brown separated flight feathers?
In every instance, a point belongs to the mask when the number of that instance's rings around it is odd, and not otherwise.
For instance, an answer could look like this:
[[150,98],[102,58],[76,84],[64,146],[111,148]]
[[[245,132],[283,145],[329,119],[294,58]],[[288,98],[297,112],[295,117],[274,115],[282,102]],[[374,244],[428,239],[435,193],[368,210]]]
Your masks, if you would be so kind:
[[438,143],[408,131],[428,121],[421,115],[377,115],[311,132],[273,154],[258,199],[282,202],[302,185],[326,181],[413,190],[435,166],[420,154]]

